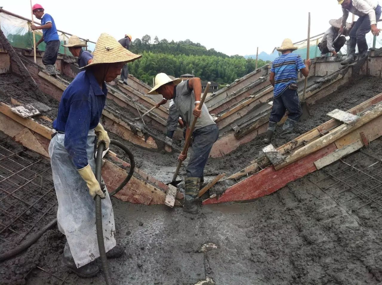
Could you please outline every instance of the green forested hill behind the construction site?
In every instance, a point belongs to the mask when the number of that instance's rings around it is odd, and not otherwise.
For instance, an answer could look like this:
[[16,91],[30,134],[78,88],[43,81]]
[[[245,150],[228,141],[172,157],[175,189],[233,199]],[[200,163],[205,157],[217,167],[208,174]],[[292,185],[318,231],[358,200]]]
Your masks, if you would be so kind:
[[[214,49],[207,50],[191,40],[169,42],[149,35],[135,39],[130,43],[130,51],[143,57],[129,63],[129,72],[142,81],[152,84],[152,78],[159,72],[180,77],[185,73],[194,73],[202,80],[220,84],[232,83],[235,79],[255,70],[256,60],[245,59],[240,55],[228,56]],[[267,62],[259,60],[258,67]]]

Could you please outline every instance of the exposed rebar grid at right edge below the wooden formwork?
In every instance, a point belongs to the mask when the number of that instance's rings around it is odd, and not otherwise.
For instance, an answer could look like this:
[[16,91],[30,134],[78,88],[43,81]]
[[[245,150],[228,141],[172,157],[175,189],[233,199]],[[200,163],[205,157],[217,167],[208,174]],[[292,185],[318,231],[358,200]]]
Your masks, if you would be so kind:
[[360,214],[366,218],[382,217],[382,148],[360,150],[324,168],[324,172],[325,177],[316,183],[338,204],[353,212],[362,210]]

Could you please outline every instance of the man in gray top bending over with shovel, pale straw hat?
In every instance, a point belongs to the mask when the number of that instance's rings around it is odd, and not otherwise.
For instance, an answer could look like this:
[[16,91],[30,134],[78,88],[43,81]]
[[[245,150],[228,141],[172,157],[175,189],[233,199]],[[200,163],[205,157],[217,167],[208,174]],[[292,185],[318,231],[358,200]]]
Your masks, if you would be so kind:
[[[192,134],[193,146],[185,177],[185,209],[193,213],[198,211],[197,194],[202,185],[201,181],[204,181],[204,167],[212,145],[219,137],[219,128],[208,112],[207,106],[203,104],[201,110],[198,110],[201,92],[200,78],[194,77],[182,81],[179,78],[171,79],[165,73],[159,73],[155,76],[154,88],[148,93],[161,94],[167,100],[174,100],[176,109],[186,123],[186,136],[189,134],[189,126],[193,123],[194,116],[198,117]],[[183,161],[186,157],[187,151],[178,158]]]

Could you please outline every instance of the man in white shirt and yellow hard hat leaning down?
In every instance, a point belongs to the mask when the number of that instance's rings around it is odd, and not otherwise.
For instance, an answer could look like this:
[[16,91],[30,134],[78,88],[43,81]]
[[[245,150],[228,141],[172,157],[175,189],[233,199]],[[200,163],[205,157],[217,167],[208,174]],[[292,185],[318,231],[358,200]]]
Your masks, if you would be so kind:
[[374,36],[379,35],[377,22],[381,16],[381,6],[378,0],[337,0],[342,6],[342,23],[340,32],[343,32],[346,26],[349,12],[357,15],[359,18],[351,29],[348,41],[348,56],[341,62],[342,65],[353,63],[355,61],[356,45],[358,46],[359,59],[367,55],[369,49],[366,42],[366,34],[372,32]]

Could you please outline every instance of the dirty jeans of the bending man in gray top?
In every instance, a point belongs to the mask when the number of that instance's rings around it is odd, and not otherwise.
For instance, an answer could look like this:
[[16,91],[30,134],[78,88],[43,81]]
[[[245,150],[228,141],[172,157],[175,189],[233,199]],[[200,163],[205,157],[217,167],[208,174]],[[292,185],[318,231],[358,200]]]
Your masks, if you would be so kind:
[[205,126],[193,132],[193,145],[187,165],[187,177],[203,177],[204,167],[212,145],[219,138],[219,128],[216,124]]

